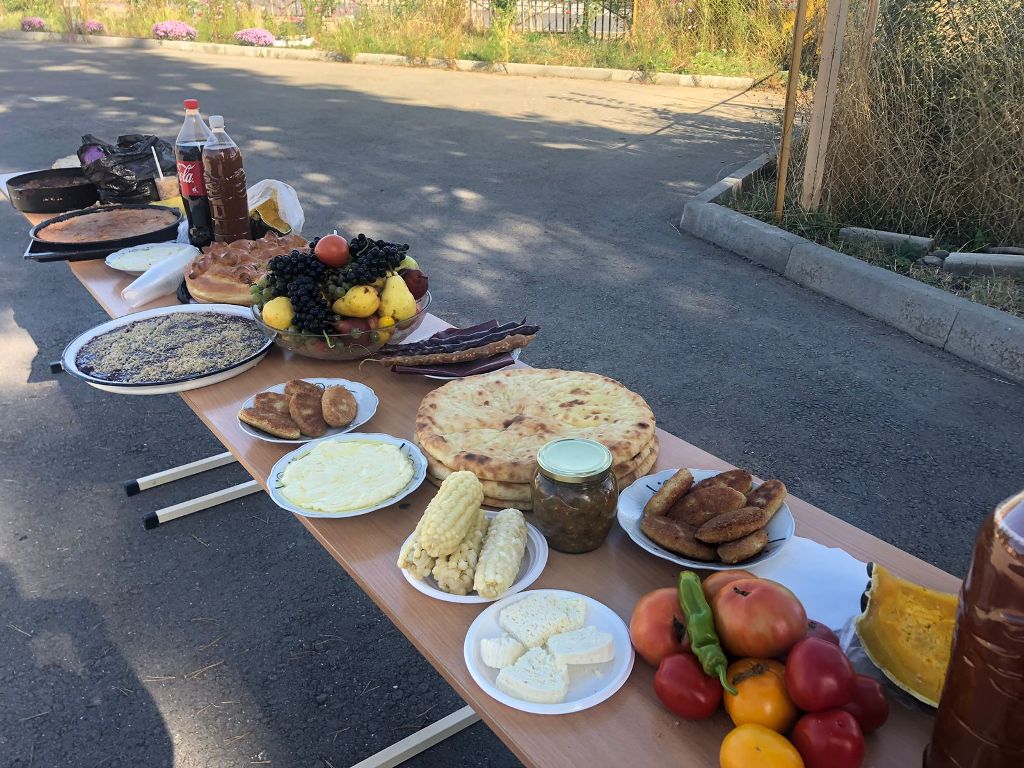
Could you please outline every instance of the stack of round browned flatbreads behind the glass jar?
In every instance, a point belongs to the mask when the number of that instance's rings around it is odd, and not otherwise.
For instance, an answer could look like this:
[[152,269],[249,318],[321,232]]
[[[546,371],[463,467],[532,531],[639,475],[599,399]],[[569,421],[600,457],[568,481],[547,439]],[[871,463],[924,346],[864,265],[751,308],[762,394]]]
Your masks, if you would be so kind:
[[597,374],[527,368],[460,379],[430,392],[416,414],[430,480],[469,470],[490,507],[531,509],[537,452],[560,437],[607,446],[620,488],[657,461],[650,407]]

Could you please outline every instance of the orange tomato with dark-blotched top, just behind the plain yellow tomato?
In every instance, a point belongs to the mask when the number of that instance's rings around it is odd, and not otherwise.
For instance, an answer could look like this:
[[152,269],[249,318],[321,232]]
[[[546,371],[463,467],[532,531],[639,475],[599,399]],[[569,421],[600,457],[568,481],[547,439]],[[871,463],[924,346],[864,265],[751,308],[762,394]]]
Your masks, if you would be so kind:
[[754,723],[785,733],[797,722],[796,706],[785,690],[785,667],[771,658],[740,658],[726,677],[736,695],[725,691],[725,711],[734,725]]

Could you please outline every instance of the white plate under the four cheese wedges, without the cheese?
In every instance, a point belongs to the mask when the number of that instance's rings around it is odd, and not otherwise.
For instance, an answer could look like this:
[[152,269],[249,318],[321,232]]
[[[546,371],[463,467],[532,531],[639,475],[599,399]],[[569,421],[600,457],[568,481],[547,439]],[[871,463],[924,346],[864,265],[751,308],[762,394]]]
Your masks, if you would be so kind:
[[[587,603],[587,622],[584,626],[596,627],[611,633],[615,641],[615,657],[610,662],[569,667],[569,692],[564,701],[554,705],[534,703],[510,696],[499,689],[495,682],[498,679],[498,670],[487,667],[480,658],[480,640],[487,637],[501,637],[505,634],[498,623],[498,615],[502,609],[529,595],[544,593],[558,597],[582,597]],[[630,643],[630,631],[617,613],[593,598],[563,590],[520,592],[492,603],[470,625],[469,632],[466,633],[463,654],[469,674],[484,693],[512,709],[535,715],[565,715],[596,707],[623,687],[630,677],[630,672],[633,671],[634,657],[633,645]]]

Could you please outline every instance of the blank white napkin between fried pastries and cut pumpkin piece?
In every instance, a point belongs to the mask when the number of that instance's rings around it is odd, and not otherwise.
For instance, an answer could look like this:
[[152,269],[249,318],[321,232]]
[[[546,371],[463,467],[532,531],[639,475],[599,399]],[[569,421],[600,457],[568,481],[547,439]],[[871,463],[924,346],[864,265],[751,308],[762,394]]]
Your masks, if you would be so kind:
[[808,618],[837,632],[860,612],[868,582],[866,564],[849,552],[799,536],[771,560],[746,569],[787,587],[804,604]]

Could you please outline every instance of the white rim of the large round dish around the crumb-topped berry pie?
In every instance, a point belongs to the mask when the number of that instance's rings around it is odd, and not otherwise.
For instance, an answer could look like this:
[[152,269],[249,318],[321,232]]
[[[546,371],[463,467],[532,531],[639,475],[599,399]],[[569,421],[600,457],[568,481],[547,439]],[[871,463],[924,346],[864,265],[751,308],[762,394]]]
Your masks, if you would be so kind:
[[79,350],[97,336],[101,336],[108,331],[113,331],[115,328],[127,326],[129,323],[147,319],[150,317],[160,317],[166,314],[175,314],[178,312],[212,312],[215,314],[233,314],[253,322],[253,326],[257,329],[259,328],[252,319],[252,313],[250,312],[249,307],[236,306],[233,304],[178,304],[174,306],[162,306],[157,307],[156,309],[146,309],[141,312],[125,314],[121,317],[116,317],[115,319],[108,321],[106,323],[100,324],[95,328],[89,329],[65,347],[63,354],[60,356],[60,365],[63,368],[65,373],[70,376],[74,376],[77,379],[82,379],[90,386],[93,386],[96,389],[101,389],[104,392],[114,392],[116,394],[168,394],[170,392],[184,392],[189,389],[207,387],[211,384],[224,381],[225,379],[230,379],[241,373],[245,373],[263,359],[266,351],[273,343],[272,339],[266,339],[263,345],[256,352],[249,355],[245,359],[239,360],[231,366],[221,369],[220,371],[215,371],[214,373],[207,374],[205,376],[163,384],[124,384],[113,381],[103,381],[102,379],[95,379],[78,370],[78,365],[76,364],[75,358],[78,356]]

